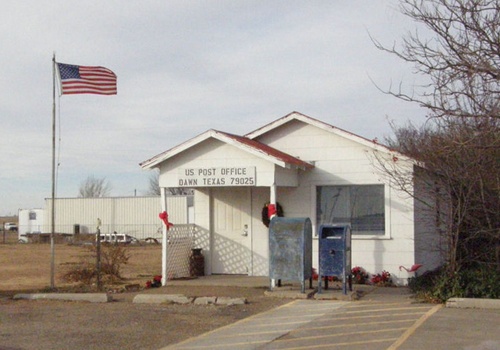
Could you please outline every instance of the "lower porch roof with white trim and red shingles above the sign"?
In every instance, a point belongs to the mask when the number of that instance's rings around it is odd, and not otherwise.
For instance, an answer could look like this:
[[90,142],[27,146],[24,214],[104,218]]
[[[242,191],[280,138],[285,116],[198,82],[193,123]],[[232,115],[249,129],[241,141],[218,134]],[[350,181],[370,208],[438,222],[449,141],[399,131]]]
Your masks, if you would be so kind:
[[150,169],[156,167],[158,164],[162,163],[163,161],[179,154],[182,153],[189,148],[205,141],[210,138],[219,140],[221,142],[224,142],[229,145],[233,145],[245,152],[249,152],[251,154],[254,154],[257,157],[261,157],[264,159],[269,160],[270,162],[273,162],[283,168],[294,168],[294,169],[310,169],[313,168],[314,165],[305,162],[303,160],[300,160],[299,158],[293,157],[287,153],[281,152],[280,150],[277,150],[275,148],[272,148],[268,145],[265,145],[261,142],[258,142],[256,140],[252,140],[250,138],[244,137],[244,136],[237,136],[233,134],[228,134],[222,131],[210,129],[203,134],[200,134],[191,140],[188,140],[174,148],[171,148],[163,153],[160,153],[156,156],[154,156],[151,159],[148,159],[142,163],[139,163],[139,165],[142,168],[145,169]]

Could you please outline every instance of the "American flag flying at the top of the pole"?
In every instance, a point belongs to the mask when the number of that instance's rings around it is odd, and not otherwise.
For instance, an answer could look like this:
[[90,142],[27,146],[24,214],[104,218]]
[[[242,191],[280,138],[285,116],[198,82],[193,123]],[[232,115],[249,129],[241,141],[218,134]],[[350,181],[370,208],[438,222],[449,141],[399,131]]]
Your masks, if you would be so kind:
[[116,95],[116,75],[98,66],[75,66],[57,63],[61,94]]

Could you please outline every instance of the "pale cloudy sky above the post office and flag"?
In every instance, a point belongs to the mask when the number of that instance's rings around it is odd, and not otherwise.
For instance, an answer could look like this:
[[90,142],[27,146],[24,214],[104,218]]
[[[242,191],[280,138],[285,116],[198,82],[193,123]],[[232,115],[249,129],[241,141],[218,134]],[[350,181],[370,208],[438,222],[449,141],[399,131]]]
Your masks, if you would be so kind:
[[[425,111],[384,94],[414,67],[375,48],[415,24],[396,0],[7,0],[0,13],[0,216],[51,196],[52,58],[104,66],[118,94],[57,93],[57,197],[89,176],[146,195],[139,163],[206,130],[244,135],[293,111],[384,140]],[[56,84],[57,85],[57,84]]]

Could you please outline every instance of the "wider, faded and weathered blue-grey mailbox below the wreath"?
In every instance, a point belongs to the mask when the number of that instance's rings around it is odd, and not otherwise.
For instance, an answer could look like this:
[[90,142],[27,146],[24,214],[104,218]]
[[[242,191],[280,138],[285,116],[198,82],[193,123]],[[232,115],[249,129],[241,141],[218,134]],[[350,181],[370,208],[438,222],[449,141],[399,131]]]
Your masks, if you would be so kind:
[[[269,225],[269,278],[300,281],[312,278],[312,224],[309,218],[274,217]],[[271,282],[271,289],[273,288]]]

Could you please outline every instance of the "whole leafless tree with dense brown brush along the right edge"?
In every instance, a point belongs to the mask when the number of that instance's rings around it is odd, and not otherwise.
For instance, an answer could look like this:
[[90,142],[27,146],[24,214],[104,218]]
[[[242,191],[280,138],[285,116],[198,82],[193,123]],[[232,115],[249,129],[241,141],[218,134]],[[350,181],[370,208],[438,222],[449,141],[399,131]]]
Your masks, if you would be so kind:
[[[442,227],[451,271],[477,263],[500,271],[500,1],[402,0],[401,11],[432,37],[416,31],[399,46],[375,45],[414,64],[430,84],[386,93],[418,103],[430,119],[422,128],[393,126],[389,146],[424,165],[420,175],[438,198],[430,208],[450,204]],[[392,183],[411,193],[407,174],[383,164]]]

